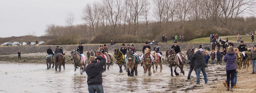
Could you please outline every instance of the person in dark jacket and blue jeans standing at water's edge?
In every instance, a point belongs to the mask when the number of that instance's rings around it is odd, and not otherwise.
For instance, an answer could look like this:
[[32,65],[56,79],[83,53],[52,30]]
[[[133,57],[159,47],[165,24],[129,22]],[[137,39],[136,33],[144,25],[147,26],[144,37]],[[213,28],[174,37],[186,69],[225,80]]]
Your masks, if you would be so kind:
[[207,81],[207,75],[206,75],[206,71],[205,71],[205,61],[204,61],[204,56],[202,54],[202,52],[198,51],[199,49],[195,49],[195,53],[192,56],[192,59],[195,60],[195,68],[196,68],[196,84],[200,84],[200,72],[202,71],[203,75],[204,75],[204,83],[208,83]]

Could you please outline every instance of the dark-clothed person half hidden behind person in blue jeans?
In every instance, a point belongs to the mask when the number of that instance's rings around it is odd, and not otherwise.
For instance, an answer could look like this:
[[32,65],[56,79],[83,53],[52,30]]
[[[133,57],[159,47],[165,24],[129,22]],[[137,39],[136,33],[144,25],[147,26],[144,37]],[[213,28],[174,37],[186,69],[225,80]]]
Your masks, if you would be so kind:
[[192,73],[192,71],[194,70],[195,73],[196,73],[196,69],[194,68],[195,67],[195,60],[192,59],[192,56],[194,54],[195,50],[192,50],[192,54],[189,54],[189,72],[188,72],[188,78],[187,79],[191,79],[190,78],[190,75]]

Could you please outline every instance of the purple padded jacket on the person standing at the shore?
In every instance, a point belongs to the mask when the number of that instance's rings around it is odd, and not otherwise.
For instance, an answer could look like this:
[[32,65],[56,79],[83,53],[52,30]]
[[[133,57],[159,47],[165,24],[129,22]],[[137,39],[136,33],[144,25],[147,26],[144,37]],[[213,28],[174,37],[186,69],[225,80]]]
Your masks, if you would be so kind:
[[233,51],[225,55],[224,61],[226,61],[226,70],[236,69],[236,54]]

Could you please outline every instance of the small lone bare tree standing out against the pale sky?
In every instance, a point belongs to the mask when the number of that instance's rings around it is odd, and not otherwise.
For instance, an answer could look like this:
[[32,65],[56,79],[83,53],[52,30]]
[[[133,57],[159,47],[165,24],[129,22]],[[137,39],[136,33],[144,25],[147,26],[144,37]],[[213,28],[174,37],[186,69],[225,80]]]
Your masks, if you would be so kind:
[[68,30],[70,34],[72,32],[73,24],[76,22],[76,18],[73,12],[67,12],[67,16],[65,17],[65,23],[68,25]]

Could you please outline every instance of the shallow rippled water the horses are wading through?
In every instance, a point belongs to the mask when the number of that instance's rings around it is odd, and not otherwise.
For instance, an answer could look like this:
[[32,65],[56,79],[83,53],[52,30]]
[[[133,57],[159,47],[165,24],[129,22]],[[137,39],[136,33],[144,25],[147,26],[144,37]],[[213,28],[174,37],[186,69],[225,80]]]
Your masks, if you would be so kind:
[[[12,65],[14,64],[14,65]],[[225,65],[208,65],[206,73],[208,85],[219,79],[225,78]],[[33,63],[10,63],[0,62],[0,92],[84,92],[88,93],[87,75],[79,74],[79,70],[74,72],[72,64],[66,64],[66,71],[55,72],[54,69],[47,70],[45,64]],[[196,84],[196,75],[193,71],[191,80],[187,80],[189,65],[185,65],[185,75],[171,77],[168,65],[163,65],[162,73],[153,73],[152,76],[144,76],[143,68],[138,66],[138,76],[128,77],[127,73],[119,73],[119,67],[114,65],[102,74],[103,89],[105,93],[115,92],[186,92]],[[224,70],[223,70],[224,69]],[[124,71],[124,67],[123,67]],[[76,75],[75,75],[76,74]],[[174,73],[173,73],[174,74]],[[202,73],[200,74],[203,78]],[[204,79],[200,79],[204,86]]]

